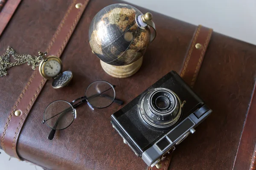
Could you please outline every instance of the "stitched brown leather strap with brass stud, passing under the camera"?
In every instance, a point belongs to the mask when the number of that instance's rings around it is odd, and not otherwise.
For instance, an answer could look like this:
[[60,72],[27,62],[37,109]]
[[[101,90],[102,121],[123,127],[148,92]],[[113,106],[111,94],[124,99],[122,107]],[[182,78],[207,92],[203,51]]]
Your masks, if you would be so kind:
[[[181,69],[180,76],[188,83],[191,87],[195,84],[195,80],[198,76],[201,64],[204,59],[205,51],[208,47],[209,41],[212,36],[212,29],[206,28],[201,25],[195,30],[192,41],[190,42],[186,57]],[[199,45],[200,44],[200,45]],[[172,154],[166,156],[166,159],[160,161],[162,167],[157,169],[156,166],[148,167],[148,170],[168,170],[171,162]]]

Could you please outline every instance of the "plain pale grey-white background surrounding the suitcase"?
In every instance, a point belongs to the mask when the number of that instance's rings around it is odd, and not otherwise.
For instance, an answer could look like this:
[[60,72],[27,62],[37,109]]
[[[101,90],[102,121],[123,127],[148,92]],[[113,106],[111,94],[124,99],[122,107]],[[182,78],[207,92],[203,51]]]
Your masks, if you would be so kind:
[[[213,28],[221,34],[256,45],[256,0],[126,1],[194,25],[201,24]],[[2,152],[1,170],[42,170],[15,158],[8,160],[9,156]]]

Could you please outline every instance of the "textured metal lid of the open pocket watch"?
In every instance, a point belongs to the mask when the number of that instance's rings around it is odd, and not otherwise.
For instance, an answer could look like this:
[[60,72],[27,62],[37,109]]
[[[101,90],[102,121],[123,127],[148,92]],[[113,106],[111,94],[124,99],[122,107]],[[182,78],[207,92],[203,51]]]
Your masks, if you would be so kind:
[[56,77],[52,81],[52,87],[53,88],[62,88],[64,86],[68,85],[72,78],[73,78],[73,74],[71,71],[64,71],[63,73],[61,73],[60,76]]

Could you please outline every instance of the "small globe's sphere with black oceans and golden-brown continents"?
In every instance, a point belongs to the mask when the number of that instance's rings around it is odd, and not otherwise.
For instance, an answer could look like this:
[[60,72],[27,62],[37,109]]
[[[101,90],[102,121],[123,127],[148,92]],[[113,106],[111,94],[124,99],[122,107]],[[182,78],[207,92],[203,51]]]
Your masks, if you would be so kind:
[[139,28],[137,8],[112,4],[100,10],[90,23],[89,42],[93,52],[110,65],[128,65],[143,56],[150,41],[150,29]]

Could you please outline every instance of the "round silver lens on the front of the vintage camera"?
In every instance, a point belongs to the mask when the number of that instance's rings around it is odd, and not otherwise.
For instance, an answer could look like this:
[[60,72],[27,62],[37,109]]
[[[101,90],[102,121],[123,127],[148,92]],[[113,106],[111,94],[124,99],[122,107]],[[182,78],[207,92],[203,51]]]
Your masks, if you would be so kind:
[[140,119],[148,127],[166,129],[174,125],[181,115],[178,96],[167,88],[148,91],[140,101]]

